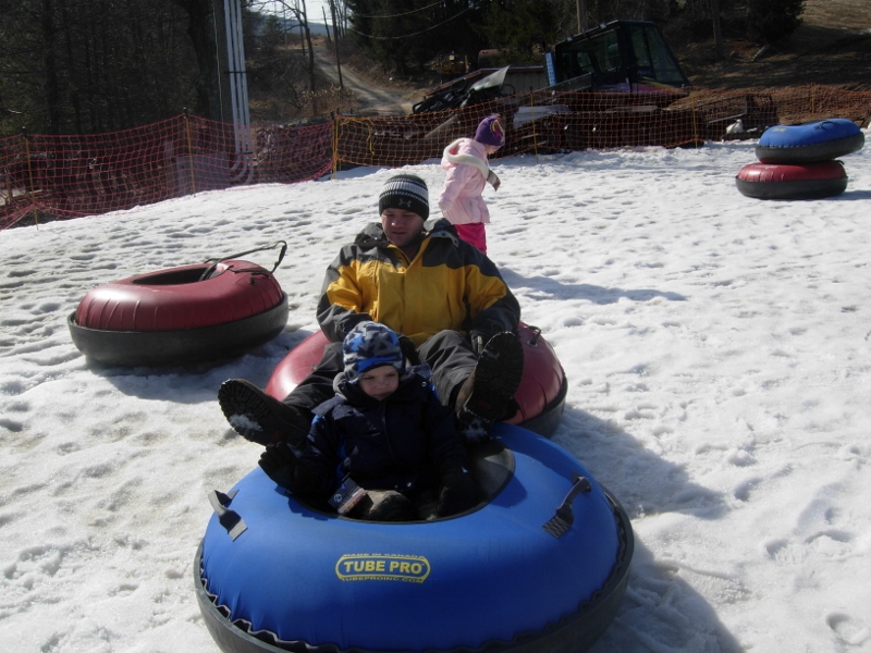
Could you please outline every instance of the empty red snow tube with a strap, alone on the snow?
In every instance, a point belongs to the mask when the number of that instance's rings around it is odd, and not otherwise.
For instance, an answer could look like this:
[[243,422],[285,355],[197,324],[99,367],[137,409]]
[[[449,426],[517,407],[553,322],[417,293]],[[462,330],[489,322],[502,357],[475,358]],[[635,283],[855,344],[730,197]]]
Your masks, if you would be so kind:
[[68,319],[90,360],[146,366],[238,356],[286,322],[287,296],[272,272],[236,258],[97,286]]

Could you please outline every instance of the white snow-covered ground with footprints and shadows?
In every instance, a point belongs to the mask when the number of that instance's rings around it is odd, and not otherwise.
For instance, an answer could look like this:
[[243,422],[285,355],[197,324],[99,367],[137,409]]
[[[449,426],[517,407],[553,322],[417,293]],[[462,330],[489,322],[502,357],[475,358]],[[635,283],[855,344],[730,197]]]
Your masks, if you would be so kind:
[[[504,159],[486,193],[491,258],[569,379],[554,440],[635,528],[596,653],[871,651],[871,151],[838,197],[761,201],[734,183],[753,145]],[[437,161],[406,170],[438,194]],[[193,590],[207,492],[260,449],[216,391],[265,385],[317,328],[392,173],[0,232],[0,651],[218,651]],[[100,283],[278,239],[287,328],[243,358],[97,368],[70,338]]]

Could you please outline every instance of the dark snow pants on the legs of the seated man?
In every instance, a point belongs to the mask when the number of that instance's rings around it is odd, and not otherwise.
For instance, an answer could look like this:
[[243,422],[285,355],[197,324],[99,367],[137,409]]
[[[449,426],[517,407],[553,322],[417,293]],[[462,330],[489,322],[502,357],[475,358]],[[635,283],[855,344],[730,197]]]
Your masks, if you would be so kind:
[[[420,362],[426,362],[432,370],[432,384],[442,404],[453,405],[459,386],[471,374],[478,360],[469,341],[458,331],[440,331],[417,347],[417,355]],[[342,370],[342,343],[329,343],[317,367],[284,397],[283,403],[311,412],[335,396],[333,379]]]

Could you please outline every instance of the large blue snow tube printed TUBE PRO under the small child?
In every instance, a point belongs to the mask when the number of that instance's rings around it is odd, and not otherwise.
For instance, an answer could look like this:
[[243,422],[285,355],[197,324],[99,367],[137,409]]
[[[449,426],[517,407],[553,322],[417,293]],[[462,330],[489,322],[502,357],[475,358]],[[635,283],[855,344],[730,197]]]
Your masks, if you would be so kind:
[[619,504],[559,445],[493,428],[487,500],[434,521],[347,519],[259,469],[214,493],[197,552],[200,611],[228,653],[569,653],[612,621],[634,540]]

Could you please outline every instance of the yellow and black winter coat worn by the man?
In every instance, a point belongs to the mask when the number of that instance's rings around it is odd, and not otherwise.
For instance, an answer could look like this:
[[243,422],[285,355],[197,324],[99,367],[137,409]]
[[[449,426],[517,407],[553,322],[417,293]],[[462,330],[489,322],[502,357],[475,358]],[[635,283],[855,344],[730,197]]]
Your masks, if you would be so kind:
[[495,264],[447,220],[427,223],[413,260],[369,224],[327,269],[318,322],[340,342],[361,320],[387,324],[416,346],[443,330],[514,331],[520,306]]

